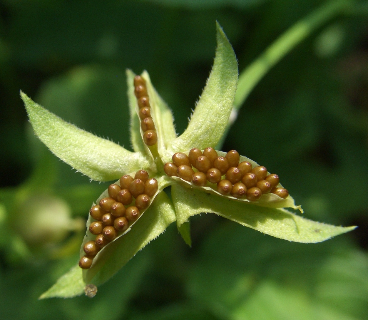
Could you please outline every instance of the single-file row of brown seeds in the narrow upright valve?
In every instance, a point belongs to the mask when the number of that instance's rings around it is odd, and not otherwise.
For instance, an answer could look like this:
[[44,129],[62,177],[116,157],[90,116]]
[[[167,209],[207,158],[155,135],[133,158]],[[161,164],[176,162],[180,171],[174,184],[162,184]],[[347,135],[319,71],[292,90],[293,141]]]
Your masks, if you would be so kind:
[[139,75],[134,77],[134,94],[138,99],[139,118],[141,119],[141,128],[144,132],[144,143],[148,146],[153,146],[157,143],[157,133],[151,117],[151,106],[149,104],[146,81]]

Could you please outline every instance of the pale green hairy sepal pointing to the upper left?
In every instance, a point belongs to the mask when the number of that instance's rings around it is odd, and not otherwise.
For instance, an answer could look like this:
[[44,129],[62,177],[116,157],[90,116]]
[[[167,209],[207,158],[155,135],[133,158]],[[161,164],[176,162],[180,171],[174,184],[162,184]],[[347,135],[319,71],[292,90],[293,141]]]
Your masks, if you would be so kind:
[[[109,181],[148,168],[142,153],[130,152],[112,141],[77,128],[21,92],[36,135],[61,160],[96,181]],[[107,115],[106,115],[107,116]]]

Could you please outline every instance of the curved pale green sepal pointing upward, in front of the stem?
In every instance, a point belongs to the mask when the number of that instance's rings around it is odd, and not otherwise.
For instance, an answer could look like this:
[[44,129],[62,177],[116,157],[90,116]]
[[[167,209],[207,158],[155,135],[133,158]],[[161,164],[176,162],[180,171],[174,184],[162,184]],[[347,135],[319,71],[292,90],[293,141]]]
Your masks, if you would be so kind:
[[193,147],[215,147],[222,137],[238,81],[238,64],[233,48],[216,23],[217,48],[212,71],[191,116],[188,128],[170,147],[171,154]]

